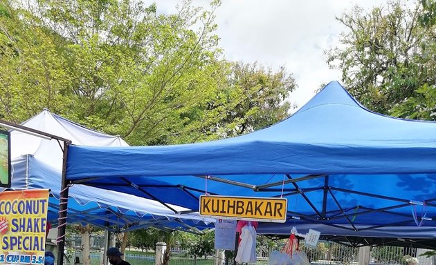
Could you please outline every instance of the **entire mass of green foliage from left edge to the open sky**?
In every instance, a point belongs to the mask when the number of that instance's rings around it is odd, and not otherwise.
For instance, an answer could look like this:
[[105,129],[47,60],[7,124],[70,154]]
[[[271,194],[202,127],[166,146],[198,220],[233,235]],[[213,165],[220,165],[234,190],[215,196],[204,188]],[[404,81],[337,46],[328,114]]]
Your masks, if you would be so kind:
[[[223,60],[214,12],[130,0],[0,6],[0,118],[43,108],[131,145],[230,137],[287,116],[284,68]],[[10,4],[12,3],[12,4]]]

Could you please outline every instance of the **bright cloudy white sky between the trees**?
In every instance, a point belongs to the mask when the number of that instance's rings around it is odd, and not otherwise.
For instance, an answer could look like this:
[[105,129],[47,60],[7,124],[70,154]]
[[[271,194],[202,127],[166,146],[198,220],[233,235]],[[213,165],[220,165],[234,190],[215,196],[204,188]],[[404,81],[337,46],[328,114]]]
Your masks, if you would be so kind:
[[[147,1],[146,1],[147,2]],[[180,1],[157,1],[158,12],[175,12]],[[223,0],[216,11],[219,46],[230,61],[254,63],[292,73],[298,88],[289,101],[298,108],[321,84],[340,81],[340,71],[329,69],[323,51],[336,46],[345,28],[336,21],[345,10],[371,10],[385,0]],[[209,6],[193,0],[194,6]]]

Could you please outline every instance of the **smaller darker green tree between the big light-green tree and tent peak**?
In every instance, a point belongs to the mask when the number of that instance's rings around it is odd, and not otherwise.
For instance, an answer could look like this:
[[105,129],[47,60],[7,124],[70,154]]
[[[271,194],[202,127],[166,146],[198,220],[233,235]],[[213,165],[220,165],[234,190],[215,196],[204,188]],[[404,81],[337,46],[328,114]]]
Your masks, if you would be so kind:
[[[219,129],[226,128],[220,132],[225,137],[259,130],[289,115],[291,106],[286,100],[296,83],[285,68],[273,72],[257,63],[233,63],[228,84],[230,87],[219,93],[221,100],[210,102],[214,110],[226,106],[219,121]],[[235,95],[239,100],[235,101]]]

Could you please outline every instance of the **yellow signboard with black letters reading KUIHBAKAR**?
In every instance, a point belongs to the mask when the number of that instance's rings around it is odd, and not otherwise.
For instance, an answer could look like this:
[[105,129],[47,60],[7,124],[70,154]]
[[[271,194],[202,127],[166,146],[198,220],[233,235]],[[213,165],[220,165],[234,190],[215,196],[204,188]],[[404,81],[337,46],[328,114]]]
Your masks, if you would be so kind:
[[200,215],[262,222],[286,222],[287,199],[200,196]]

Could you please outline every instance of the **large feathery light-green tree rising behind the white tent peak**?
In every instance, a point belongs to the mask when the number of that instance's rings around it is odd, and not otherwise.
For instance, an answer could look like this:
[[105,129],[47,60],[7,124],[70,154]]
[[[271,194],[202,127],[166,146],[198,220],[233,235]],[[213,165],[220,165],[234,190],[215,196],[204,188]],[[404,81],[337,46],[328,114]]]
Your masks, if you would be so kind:
[[[64,99],[64,107],[53,107],[55,112],[122,135],[132,144],[144,144],[144,138],[145,143],[161,144],[159,132],[173,126],[176,110],[201,101],[203,84],[214,84],[208,79],[219,77],[205,70],[213,68],[219,55],[217,37],[212,34],[212,12],[218,3],[208,12],[185,2],[178,14],[170,15],[156,14],[156,6],[145,8],[133,1],[37,1],[29,5],[36,6],[10,6],[11,14],[17,15],[13,20],[3,19],[8,23],[1,27],[5,29],[4,46],[12,46],[1,58],[6,68],[1,69],[2,76],[8,77],[1,98],[12,102],[2,113],[6,119],[21,121],[51,107],[48,99],[54,86],[62,88]],[[28,42],[11,37],[20,23],[23,32],[17,33],[19,37],[32,32],[42,32],[41,36],[28,38]],[[30,50],[21,52],[23,47]],[[39,61],[30,60],[31,55]],[[24,70],[23,61],[29,61]],[[44,63],[46,71],[39,69]],[[65,70],[62,75],[48,75],[55,69]],[[22,80],[28,80],[26,86],[17,89],[15,83]],[[48,84],[41,86],[42,81]],[[39,87],[41,100],[25,100],[25,95],[33,96]],[[32,105],[21,106],[24,103]],[[21,116],[16,117],[17,113]]]

